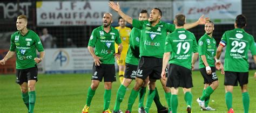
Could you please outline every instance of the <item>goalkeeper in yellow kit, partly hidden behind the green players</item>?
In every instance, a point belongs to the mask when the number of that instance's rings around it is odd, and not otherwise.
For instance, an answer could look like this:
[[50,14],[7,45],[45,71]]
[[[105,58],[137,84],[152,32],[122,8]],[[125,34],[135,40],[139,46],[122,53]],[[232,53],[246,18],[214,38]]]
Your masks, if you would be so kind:
[[[122,44],[123,44],[123,51],[121,53],[121,57],[120,59],[117,61],[117,65],[119,68],[119,80],[122,83],[123,79],[124,79],[124,70],[125,70],[125,58],[126,58],[126,54],[129,48],[129,38],[130,38],[130,32],[131,29],[129,27],[126,27],[126,22],[122,17],[118,18],[118,27],[115,27],[115,29],[117,29],[119,31],[120,34],[120,38],[122,40]],[[115,44],[116,48],[118,48],[117,44]],[[117,52],[117,49],[116,49]]]

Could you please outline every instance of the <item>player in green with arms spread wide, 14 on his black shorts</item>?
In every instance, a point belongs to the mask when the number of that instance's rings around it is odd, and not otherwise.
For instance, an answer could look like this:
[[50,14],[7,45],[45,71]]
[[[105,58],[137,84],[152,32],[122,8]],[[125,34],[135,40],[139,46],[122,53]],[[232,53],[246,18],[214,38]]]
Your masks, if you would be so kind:
[[[161,79],[161,67],[163,62],[163,54],[164,54],[164,46],[165,46],[165,38],[167,32],[172,32],[175,29],[175,26],[172,24],[167,24],[165,22],[161,22],[161,10],[158,8],[153,8],[150,13],[150,18],[148,20],[139,21],[136,19],[132,19],[130,16],[126,15],[122,10],[120,10],[119,4],[115,4],[114,2],[109,2],[110,8],[114,11],[118,12],[118,14],[127,22],[132,24],[133,27],[141,30],[140,37],[140,61],[136,74],[136,84],[132,89],[131,95],[129,97],[129,107],[127,112],[130,112],[132,109],[132,105],[134,100],[138,96],[138,90],[143,85],[143,81],[149,76],[149,94],[147,96],[147,102],[145,110],[149,112],[149,108],[151,107],[153,98],[156,94],[156,80],[160,79],[163,88],[165,90],[166,101],[170,108],[170,97],[171,91],[170,88],[165,86],[165,79]],[[185,24],[185,29],[190,29],[199,24],[205,24],[208,18],[204,18],[203,16],[199,18],[199,20],[192,24]]]

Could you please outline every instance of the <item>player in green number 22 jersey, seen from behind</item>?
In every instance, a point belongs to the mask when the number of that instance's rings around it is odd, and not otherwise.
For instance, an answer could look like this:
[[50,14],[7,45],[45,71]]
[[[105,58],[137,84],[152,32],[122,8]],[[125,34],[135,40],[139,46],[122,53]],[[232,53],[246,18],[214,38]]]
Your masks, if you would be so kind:
[[254,62],[256,63],[256,47],[254,46],[254,38],[251,34],[245,32],[246,17],[238,15],[235,18],[234,30],[226,31],[217,48],[216,64],[220,65],[220,54],[223,47],[226,46],[225,51],[225,91],[226,91],[226,104],[228,112],[234,112],[232,108],[232,92],[233,87],[238,86],[238,82],[242,92],[242,104],[244,105],[244,112],[249,111],[250,97],[247,92],[248,84],[248,50],[253,55]]

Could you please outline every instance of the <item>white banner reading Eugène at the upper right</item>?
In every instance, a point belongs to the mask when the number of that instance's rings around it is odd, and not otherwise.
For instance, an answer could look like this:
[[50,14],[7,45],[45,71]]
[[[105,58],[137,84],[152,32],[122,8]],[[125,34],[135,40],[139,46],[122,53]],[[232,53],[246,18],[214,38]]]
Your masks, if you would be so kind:
[[242,13],[241,0],[174,1],[173,16],[183,13],[186,22],[196,22],[200,16],[210,17],[215,24],[234,24],[235,17]]

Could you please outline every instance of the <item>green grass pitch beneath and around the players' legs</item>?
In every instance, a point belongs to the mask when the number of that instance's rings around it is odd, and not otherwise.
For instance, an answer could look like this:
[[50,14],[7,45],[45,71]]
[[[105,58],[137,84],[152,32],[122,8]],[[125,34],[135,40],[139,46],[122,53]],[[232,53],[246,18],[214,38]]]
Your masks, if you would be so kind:
[[[253,77],[255,70],[250,71],[248,92],[250,94],[250,112],[256,110],[256,81]],[[203,90],[203,77],[199,71],[193,71],[193,84],[192,88],[193,112],[227,112],[225,103],[225,90],[224,90],[224,75],[217,71],[220,85],[217,90],[211,95],[209,105],[212,108],[216,108],[217,111],[200,111],[199,105],[196,99],[201,95]],[[21,98],[21,91],[18,84],[15,83],[15,75],[1,75],[0,76],[0,112],[28,112],[25,104]],[[57,74],[57,75],[42,75],[38,76],[39,81],[36,84],[36,105],[35,112],[81,112],[87,95],[87,88],[91,84],[91,74]],[[119,80],[119,79],[117,79]],[[110,109],[113,109],[116,99],[116,92],[120,86],[120,82],[114,82],[112,86],[112,96]],[[121,109],[125,111],[127,108],[127,101],[131,93],[131,89],[134,86],[134,81],[126,91],[124,101],[121,104]],[[160,101],[163,105],[167,106],[164,96],[164,90],[161,88],[161,84],[157,81],[157,87],[159,91]],[[103,110],[103,94],[104,84],[100,83],[100,86],[96,90],[96,94],[92,99],[90,112],[99,113]],[[146,94],[147,95],[147,94]],[[146,96],[145,96],[146,97]],[[179,112],[186,112],[186,105],[184,101],[184,94],[182,89],[179,89]],[[146,101],[146,99],[144,100]],[[146,102],[144,102],[145,104]],[[133,105],[133,112],[137,112],[138,99]],[[244,112],[242,106],[241,89],[240,87],[234,87],[233,91],[233,108],[235,112]],[[157,112],[156,105],[153,103],[150,112]]]

